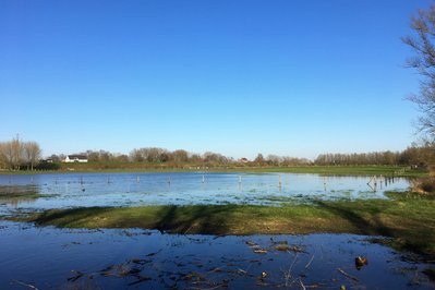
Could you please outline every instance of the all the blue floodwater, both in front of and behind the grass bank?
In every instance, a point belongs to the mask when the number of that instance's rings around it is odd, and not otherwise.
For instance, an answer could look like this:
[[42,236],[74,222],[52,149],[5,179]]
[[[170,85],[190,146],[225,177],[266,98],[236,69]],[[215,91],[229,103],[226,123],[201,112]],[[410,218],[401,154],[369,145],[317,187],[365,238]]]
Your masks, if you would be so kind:
[[[406,179],[241,173],[0,176],[0,216],[78,206],[388,198]],[[32,196],[32,194],[37,193]],[[11,195],[15,197],[11,197]],[[0,221],[0,289],[433,289],[430,265],[352,234],[194,235]],[[367,265],[355,267],[355,257]]]

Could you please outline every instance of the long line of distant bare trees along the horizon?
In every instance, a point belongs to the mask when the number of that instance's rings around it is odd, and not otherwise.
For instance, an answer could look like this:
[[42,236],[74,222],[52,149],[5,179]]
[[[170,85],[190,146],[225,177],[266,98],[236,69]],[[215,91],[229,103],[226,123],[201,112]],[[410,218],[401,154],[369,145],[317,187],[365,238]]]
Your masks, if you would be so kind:
[[[114,154],[107,150],[87,150],[80,153],[89,162],[101,164],[145,164],[145,166],[165,166],[168,168],[194,167],[291,167],[291,166],[419,166],[428,167],[434,164],[435,143],[426,142],[413,145],[403,152],[373,152],[353,154],[321,154],[314,161],[305,158],[258,154],[255,159],[239,160],[218,153],[189,153],[184,149],[168,150],[158,147],[135,148],[125,154]],[[65,155],[51,155],[41,159],[41,149],[36,142],[23,142],[13,138],[0,142],[0,169],[2,170],[56,170]]]

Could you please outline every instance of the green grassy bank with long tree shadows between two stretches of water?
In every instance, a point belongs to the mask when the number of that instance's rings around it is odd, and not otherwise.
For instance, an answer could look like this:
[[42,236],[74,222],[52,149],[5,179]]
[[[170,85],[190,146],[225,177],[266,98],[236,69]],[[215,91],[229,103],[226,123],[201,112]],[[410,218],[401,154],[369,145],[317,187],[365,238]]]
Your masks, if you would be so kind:
[[391,200],[321,202],[283,207],[143,206],[53,209],[20,218],[40,226],[146,228],[176,233],[357,233],[392,238],[390,244],[435,259],[435,200],[389,193]]

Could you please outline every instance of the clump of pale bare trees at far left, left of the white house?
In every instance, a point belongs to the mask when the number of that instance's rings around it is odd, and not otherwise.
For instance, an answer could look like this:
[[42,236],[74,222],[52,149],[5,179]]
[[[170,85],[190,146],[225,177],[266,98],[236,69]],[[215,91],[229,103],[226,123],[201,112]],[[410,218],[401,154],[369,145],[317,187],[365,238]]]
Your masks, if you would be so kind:
[[3,170],[34,170],[41,158],[39,144],[13,138],[0,142],[0,169]]

